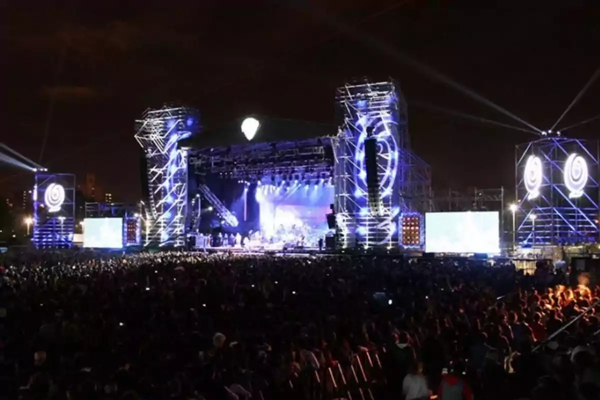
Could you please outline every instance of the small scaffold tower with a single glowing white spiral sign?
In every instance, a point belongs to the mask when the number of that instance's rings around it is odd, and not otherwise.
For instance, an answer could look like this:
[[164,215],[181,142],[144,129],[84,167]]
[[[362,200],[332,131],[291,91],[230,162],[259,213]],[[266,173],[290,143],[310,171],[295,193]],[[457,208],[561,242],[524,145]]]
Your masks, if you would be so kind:
[[75,231],[75,175],[35,174],[34,231],[37,248],[70,248]]

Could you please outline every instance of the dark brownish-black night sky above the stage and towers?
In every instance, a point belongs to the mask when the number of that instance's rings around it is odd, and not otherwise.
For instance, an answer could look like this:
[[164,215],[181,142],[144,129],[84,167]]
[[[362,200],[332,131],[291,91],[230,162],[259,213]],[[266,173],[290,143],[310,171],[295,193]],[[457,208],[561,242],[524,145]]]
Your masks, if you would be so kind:
[[[344,80],[392,76],[434,187],[514,187],[514,145],[533,135],[424,108],[519,124],[422,73],[406,55],[547,129],[600,67],[597,3],[2,2],[0,140],[38,161],[46,133],[42,164],[79,179],[95,173],[131,201],[140,196],[134,120],[147,107],[182,101],[200,110],[207,128],[247,113],[332,123]],[[599,104],[600,80],[560,126],[600,113]],[[596,120],[569,136],[597,138],[599,130]],[[16,173],[0,167],[0,191],[31,186],[31,175]]]

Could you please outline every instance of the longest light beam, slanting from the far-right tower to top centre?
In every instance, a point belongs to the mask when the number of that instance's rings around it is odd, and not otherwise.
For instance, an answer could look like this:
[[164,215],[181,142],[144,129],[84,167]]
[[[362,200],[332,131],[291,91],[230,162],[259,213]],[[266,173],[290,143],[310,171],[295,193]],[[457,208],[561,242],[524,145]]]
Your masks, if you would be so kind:
[[[291,4],[290,2],[287,2],[287,4],[292,8],[299,8],[298,5],[296,5],[295,3]],[[461,83],[456,82],[454,79],[451,79],[450,77],[445,76],[439,71],[434,70],[434,68],[429,67],[428,65],[419,61],[415,57],[410,56],[407,53],[401,52],[391,44],[379,38],[376,38],[373,35],[365,34],[364,32],[358,32],[358,29],[352,29],[352,27],[348,26],[346,23],[338,21],[331,15],[327,15],[320,10],[315,10],[314,8],[311,8],[310,5],[308,7],[306,7],[306,4],[302,5],[304,5],[302,9],[310,13],[312,16],[316,17],[316,19],[320,20],[323,23],[333,26],[334,28],[338,29],[339,31],[348,35],[348,37],[353,38],[359,43],[364,44],[365,46],[370,48],[378,49],[380,52],[384,53],[386,56],[389,56],[389,58],[394,59],[399,64],[409,65],[415,71],[422,73],[434,80],[437,80],[438,82],[443,83],[446,86],[450,86],[451,88],[456,89],[457,91],[463,93],[464,95],[467,95],[473,100],[479,101],[479,103],[485,104],[493,108],[494,110],[497,110],[498,112],[503,113],[504,115],[509,116],[510,118],[515,119],[518,122],[521,122],[521,124],[532,128],[532,130],[539,133],[542,132],[541,129],[536,128],[527,121],[524,121],[524,119],[519,118],[518,116],[514,115],[513,113],[504,109],[503,107],[500,107],[493,101],[488,100],[487,98],[476,93],[472,89],[467,88],[467,86],[464,86]]]

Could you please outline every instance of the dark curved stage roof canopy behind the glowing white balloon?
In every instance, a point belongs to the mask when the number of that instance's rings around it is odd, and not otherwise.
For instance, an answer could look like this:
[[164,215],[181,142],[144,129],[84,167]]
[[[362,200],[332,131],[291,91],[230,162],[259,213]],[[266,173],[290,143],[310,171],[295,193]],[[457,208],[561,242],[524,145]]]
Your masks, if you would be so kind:
[[323,136],[335,136],[337,127],[334,124],[298,121],[293,119],[272,118],[261,115],[250,115],[260,122],[259,130],[252,140],[247,140],[241,131],[245,115],[218,128],[203,130],[197,137],[179,142],[179,146],[203,149],[215,146],[246,145],[251,143],[295,141],[313,139]]

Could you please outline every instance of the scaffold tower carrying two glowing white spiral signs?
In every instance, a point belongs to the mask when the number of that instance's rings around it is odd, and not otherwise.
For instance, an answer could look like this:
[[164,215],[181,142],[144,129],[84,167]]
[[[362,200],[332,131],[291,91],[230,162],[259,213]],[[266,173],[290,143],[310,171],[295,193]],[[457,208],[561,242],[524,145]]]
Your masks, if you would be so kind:
[[521,245],[598,241],[599,161],[598,141],[552,136],[516,147]]

